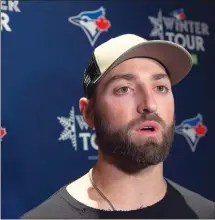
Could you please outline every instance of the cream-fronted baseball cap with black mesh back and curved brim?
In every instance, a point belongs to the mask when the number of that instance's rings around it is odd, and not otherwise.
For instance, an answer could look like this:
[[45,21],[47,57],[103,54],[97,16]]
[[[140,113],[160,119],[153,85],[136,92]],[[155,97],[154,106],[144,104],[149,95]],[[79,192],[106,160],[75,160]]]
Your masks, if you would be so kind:
[[84,93],[91,98],[95,85],[111,69],[125,60],[151,58],[164,66],[172,85],[180,82],[192,68],[190,53],[179,44],[166,40],[146,40],[123,34],[102,43],[93,51],[83,78]]

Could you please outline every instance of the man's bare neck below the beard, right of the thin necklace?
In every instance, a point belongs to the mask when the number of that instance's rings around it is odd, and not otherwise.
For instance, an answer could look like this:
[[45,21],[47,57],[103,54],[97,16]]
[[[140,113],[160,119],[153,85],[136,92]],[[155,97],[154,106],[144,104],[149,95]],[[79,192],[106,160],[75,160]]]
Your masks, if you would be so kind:
[[93,168],[92,178],[116,209],[131,210],[150,206],[160,201],[166,193],[163,163],[135,174],[127,174],[99,158]]

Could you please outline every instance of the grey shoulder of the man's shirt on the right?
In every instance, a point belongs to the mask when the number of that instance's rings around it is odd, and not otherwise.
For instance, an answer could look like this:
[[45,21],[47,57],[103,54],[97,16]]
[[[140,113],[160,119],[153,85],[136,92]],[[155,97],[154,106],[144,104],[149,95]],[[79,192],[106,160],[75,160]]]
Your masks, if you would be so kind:
[[183,197],[187,205],[199,218],[215,218],[215,202],[193,192],[170,179],[166,179]]

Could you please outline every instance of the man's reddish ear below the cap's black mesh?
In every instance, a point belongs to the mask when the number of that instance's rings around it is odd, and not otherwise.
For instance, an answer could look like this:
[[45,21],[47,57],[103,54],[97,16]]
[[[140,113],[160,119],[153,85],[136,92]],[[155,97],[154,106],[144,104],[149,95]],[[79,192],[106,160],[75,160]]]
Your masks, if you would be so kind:
[[79,109],[83,115],[84,121],[89,125],[89,127],[94,128],[92,100],[85,97],[81,98],[79,100]]

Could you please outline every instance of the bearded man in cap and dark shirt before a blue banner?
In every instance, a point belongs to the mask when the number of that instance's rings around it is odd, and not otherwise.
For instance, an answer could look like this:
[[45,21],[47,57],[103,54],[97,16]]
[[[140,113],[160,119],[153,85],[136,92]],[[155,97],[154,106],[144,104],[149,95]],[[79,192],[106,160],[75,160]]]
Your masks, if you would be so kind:
[[213,218],[214,202],[164,178],[174,136],[171,86],[192,66],[168,41],[125,34],[94,50],[79,107],[98,161],[22,218]]

